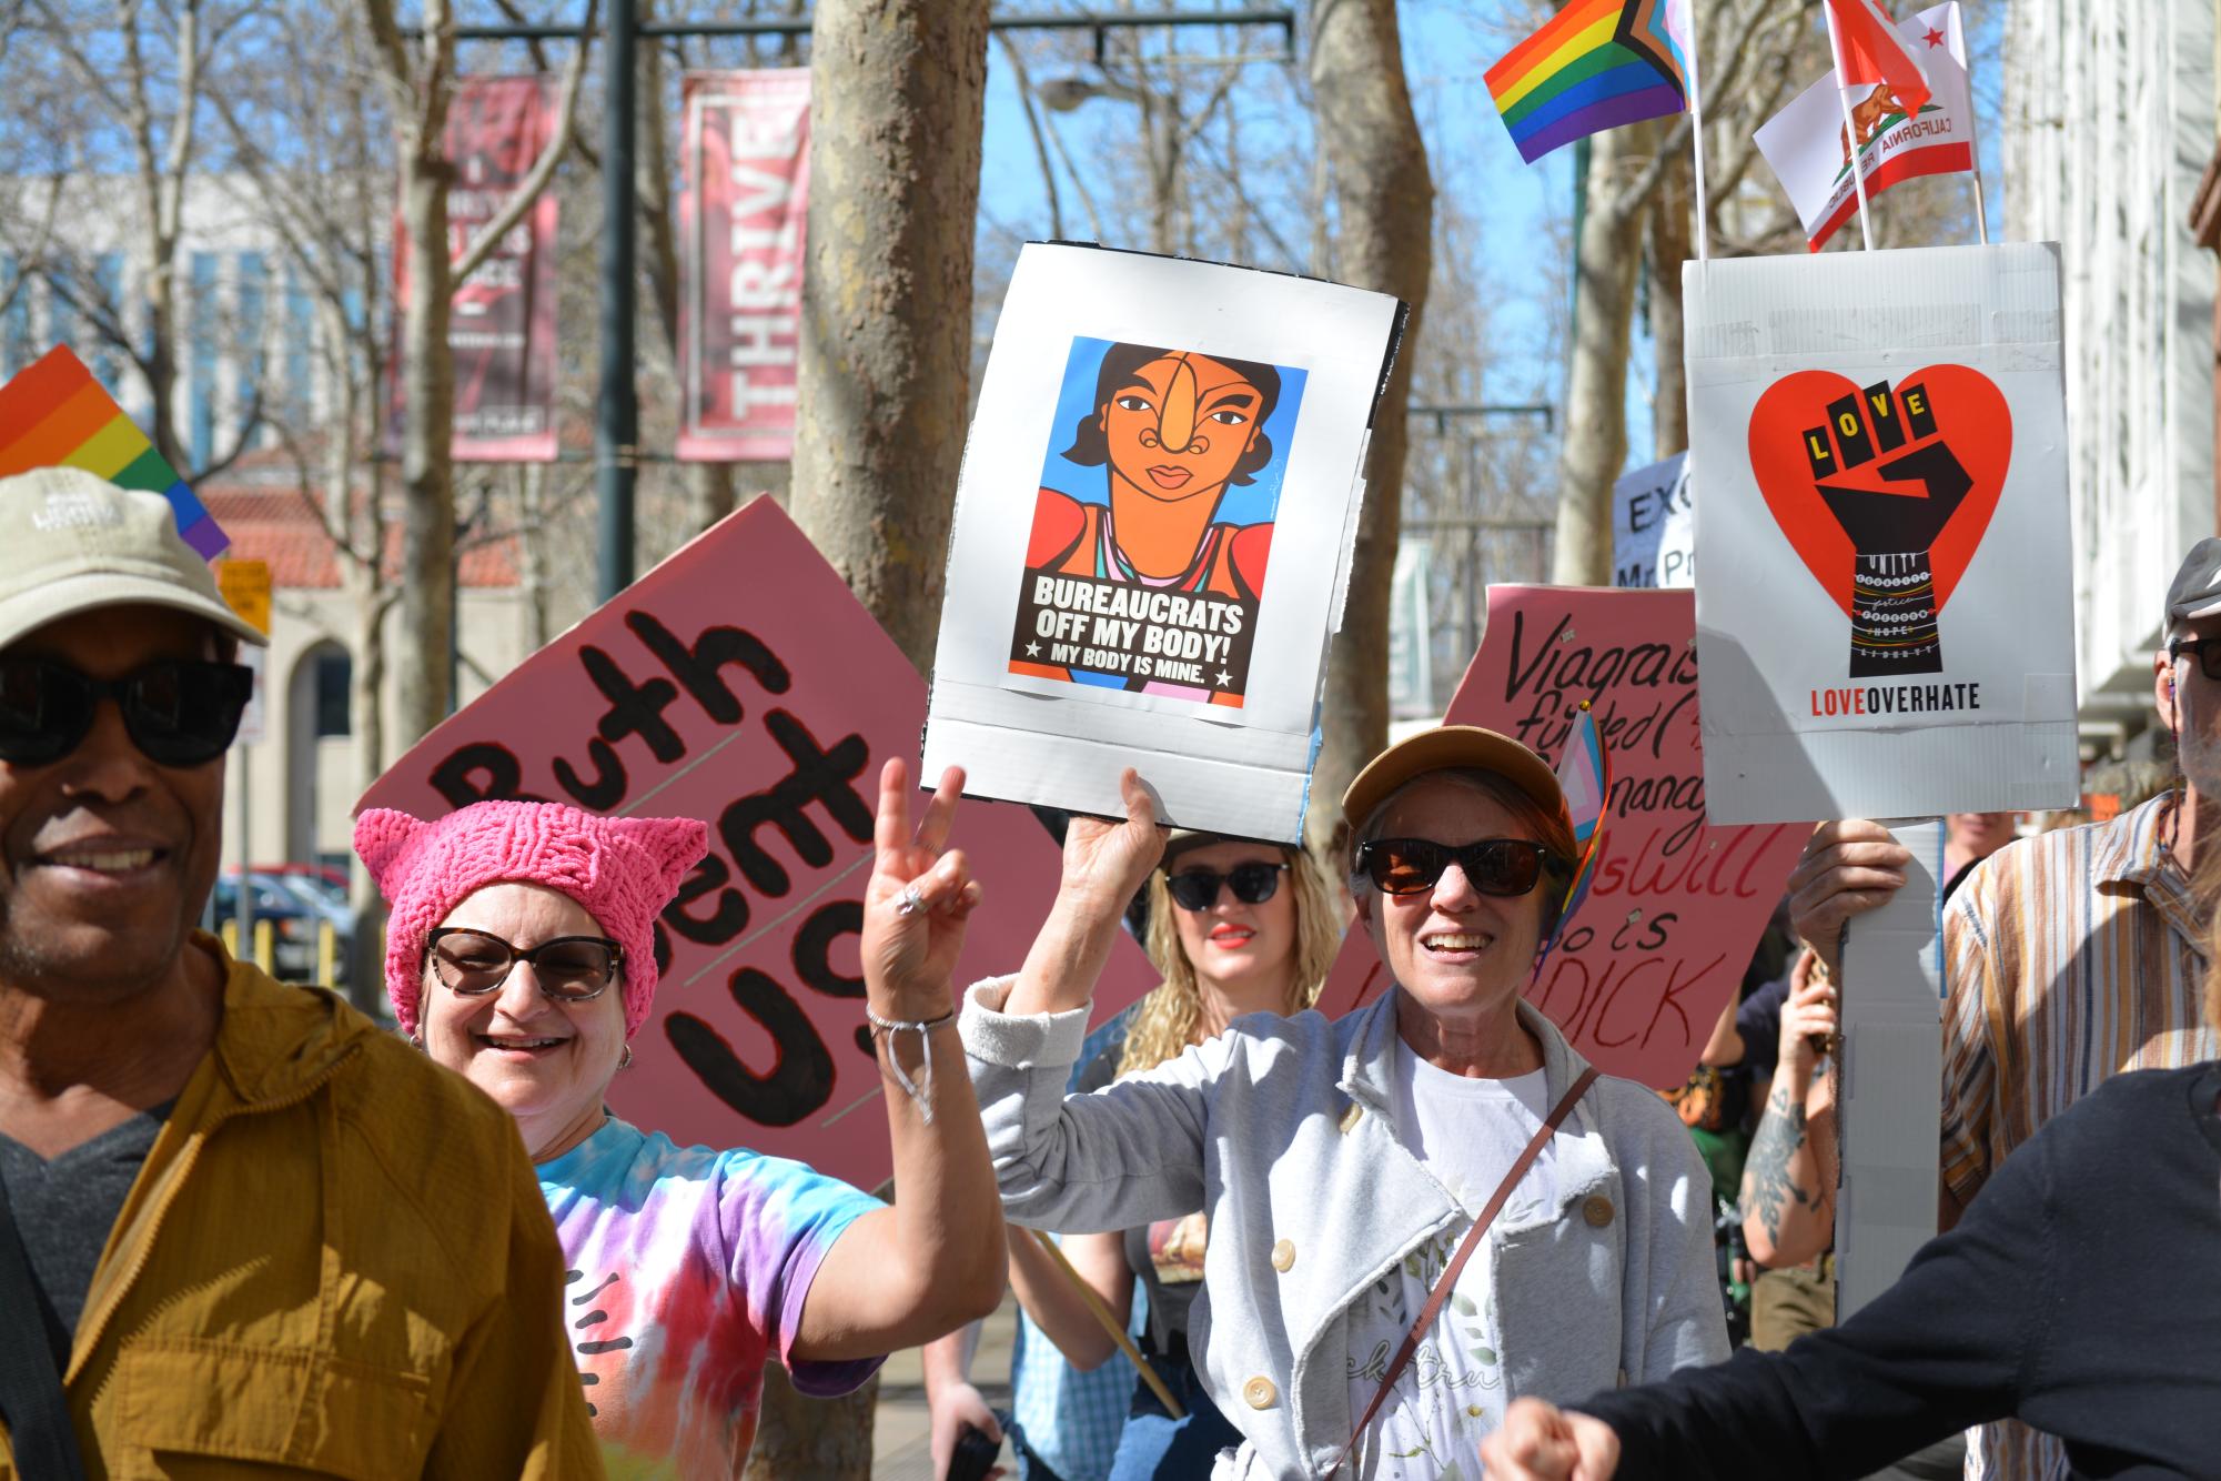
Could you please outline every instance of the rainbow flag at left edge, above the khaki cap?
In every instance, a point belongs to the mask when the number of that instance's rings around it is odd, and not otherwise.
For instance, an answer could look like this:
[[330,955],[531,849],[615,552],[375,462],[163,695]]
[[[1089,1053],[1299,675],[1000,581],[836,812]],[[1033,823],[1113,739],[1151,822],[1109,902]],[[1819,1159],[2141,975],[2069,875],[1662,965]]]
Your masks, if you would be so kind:
[[0,477],[31,469],[84,469],[120,488],[160,493],[184,544],[207,560],[231,544],[209,506],[67,344],[0,386]]

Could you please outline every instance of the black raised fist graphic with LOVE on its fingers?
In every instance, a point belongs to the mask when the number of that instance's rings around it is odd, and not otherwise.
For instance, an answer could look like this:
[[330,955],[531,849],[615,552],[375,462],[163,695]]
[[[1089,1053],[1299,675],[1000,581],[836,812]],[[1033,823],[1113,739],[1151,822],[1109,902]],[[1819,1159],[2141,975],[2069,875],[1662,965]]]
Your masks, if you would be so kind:
[[[1939,673],[1943,639],[1928,551],[1974,480],[1937,431],[1928,386],[1892,391],[1877,382],[1830,402],[1828,424],[1803,433],[1803,453],[1819,497],[1857,551],[1850,677]],[[1855,469],[1857,482],[1846,482]],[[1877,480],[1883,486],[1859,486]]]

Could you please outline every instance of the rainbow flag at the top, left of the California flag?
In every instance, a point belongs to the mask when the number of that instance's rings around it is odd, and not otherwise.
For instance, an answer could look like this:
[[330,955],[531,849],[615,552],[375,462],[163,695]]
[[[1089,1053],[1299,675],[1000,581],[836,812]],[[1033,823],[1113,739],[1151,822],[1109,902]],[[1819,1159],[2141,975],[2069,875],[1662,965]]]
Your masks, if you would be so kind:
[[1488,69],[1488,93],[1532,164],[1601,129],[1688,109],[1690,0],[1572,0]]

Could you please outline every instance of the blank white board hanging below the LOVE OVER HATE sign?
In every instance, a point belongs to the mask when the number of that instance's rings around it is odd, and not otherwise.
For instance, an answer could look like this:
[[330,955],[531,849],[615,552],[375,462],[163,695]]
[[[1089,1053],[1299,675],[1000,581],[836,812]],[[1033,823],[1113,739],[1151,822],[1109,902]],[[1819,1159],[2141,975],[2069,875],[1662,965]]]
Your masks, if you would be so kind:
[[1843,937],[1841,1192],[1835,1319],[1897,1283],[1937,1232],[1943,1124],[1943,824],[1892,828],[1912,853],[1890,904]]

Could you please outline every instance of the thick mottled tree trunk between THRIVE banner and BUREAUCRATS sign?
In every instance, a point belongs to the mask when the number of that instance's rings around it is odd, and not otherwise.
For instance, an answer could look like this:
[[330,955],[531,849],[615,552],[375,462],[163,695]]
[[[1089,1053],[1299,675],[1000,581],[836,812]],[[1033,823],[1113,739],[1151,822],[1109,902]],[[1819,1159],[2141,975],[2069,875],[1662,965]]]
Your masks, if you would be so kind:
[[820,0],[791,506],[926,671],[971,380],[986,0]]

